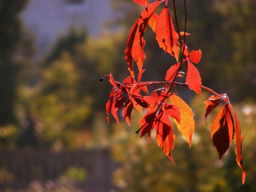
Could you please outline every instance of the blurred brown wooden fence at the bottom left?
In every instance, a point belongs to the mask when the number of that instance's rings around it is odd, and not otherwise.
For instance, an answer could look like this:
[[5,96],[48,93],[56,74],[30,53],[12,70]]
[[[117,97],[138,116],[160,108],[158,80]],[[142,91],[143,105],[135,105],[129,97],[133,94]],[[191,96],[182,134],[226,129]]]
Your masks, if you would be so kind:
[[26,189],[33,181],[45,185],[55,181],[69,167],[84,169],[86,177],[77,184],[82,191],[109,191],[115,165],[108,150],[61,151],[24,150],[0,153],[0,191]]

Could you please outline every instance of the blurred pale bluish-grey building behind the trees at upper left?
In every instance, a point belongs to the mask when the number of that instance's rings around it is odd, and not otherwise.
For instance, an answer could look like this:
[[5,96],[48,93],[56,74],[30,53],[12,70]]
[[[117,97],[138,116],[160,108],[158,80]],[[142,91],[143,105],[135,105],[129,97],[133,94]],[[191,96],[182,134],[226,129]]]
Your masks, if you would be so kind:
[[71,28],[86,29],[90,35],[100,35],[103,23],[113,18],[112,0],[30,0],[21,17],[25,27],[33,32],[39,55]]

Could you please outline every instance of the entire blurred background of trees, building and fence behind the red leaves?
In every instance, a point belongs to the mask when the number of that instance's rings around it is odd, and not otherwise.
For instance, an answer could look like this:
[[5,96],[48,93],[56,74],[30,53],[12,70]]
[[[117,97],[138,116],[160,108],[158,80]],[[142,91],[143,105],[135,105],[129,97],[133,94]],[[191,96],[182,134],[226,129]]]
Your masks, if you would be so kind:
[[[107,124],[112,87],[99,78],[129,75],[125,43],[142,8],[131,0],[0,0],[0,191],[256,191],[256,2],[187,0],[186,41],[202,50],[203,85],[227,93],[241,121],[243,186],[234,142],[219,161],[205,99],[186,87],[179,93],[196,130],[189,148],[174,127],[177,166],[134,134],[136,111],[131,127]],[[177,9],[183,30],[182,1]],[[145,39],[142,81],[163,81],[175,61],[149,28]]]

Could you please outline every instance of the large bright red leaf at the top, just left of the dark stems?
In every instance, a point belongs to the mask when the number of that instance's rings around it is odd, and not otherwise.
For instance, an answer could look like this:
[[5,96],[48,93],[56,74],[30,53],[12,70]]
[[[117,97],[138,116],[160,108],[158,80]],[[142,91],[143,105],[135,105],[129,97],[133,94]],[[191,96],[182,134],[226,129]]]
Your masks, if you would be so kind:
[[[159,47],[177,59],[178,34],[175,32],[168,8],[165,6],[156,23],[156,40]],[[174,51],[173,51],[174,49]]]

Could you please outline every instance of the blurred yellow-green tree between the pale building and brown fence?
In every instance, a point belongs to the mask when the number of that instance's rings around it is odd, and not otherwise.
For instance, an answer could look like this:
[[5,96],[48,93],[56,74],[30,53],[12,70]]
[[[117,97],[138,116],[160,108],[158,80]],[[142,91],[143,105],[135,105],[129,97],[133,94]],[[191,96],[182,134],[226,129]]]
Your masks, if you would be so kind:
[[60,150],[92,145],[92,125],[99,122],[101,115],[97,114],[105,110],[111,87],[107,82],[100,86],[99,78],[109,69],[113,69],[113,75],[125,71],[126,66],[120,64],[124,50],[121,45],[122,34],[94,38],[71,29],[44,59],[37,80],[32,78],[37,83],[19,87],[23,113],[37,119],[35,130],[41,146]]

